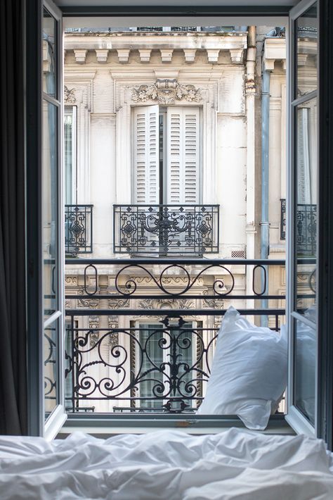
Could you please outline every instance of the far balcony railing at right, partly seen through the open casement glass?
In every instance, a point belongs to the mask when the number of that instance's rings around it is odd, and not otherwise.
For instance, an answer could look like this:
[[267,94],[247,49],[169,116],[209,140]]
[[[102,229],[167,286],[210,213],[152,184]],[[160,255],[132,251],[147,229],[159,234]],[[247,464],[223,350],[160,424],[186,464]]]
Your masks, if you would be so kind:
[[[286,201],[281,199],[280,239],[286,239]],[[315,256],[317,205],[298,204],[296,213],[296,251],[299,256]]]

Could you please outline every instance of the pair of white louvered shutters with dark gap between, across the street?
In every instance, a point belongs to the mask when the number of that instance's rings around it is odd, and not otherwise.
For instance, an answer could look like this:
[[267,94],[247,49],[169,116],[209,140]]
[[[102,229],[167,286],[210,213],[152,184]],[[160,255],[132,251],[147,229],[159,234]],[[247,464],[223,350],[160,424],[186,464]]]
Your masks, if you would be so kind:
[[200,108],[133,108],[135,204],[200,203]]

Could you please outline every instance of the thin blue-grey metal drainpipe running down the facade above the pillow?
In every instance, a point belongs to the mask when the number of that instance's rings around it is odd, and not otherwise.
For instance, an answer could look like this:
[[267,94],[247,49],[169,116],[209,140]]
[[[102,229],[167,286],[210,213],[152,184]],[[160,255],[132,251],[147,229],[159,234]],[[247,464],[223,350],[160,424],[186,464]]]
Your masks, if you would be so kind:
[[[268,258],[269,220],[268,220],[268,173],[269,173],[269,105],[270,70],[263,70],[261,87],[261,258]],[[266,268],[268,287],[268,269]],[[263,282],[263,273],[262,273]],[[266,290],[267,293],[267,290]],[[261,308],[268,307],[268,299],[262,299]],[[268,325],[268,317],[261,317],[261,325]]]

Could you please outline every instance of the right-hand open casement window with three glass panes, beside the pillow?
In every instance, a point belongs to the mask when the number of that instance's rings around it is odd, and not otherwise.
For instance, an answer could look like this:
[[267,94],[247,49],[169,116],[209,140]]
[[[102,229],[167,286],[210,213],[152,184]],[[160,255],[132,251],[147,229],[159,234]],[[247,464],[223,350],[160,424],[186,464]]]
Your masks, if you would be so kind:
[[287,420],[318,434],[318,2],[290,13]]

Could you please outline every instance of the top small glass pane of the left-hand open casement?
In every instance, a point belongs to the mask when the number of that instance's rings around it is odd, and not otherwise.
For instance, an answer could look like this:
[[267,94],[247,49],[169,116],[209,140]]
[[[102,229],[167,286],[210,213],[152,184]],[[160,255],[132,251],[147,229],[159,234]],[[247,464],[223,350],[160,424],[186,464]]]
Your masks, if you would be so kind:
[[43,90],[57,97],[56,72],[56,21],[46,8],[43,9]]

